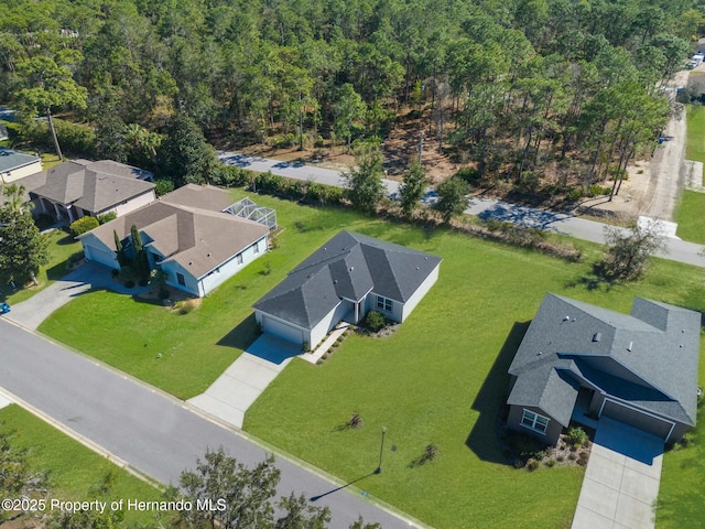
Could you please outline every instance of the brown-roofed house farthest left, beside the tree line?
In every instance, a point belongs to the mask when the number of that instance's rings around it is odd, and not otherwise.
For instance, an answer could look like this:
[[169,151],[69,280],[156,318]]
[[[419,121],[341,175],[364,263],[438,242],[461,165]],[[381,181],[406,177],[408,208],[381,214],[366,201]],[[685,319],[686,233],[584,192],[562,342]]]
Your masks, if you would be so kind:
[[68,223],[89,215],[126,215],[156,199],[152,173],[112,160],[73,160],[17,183],[29,192],[35,214]]

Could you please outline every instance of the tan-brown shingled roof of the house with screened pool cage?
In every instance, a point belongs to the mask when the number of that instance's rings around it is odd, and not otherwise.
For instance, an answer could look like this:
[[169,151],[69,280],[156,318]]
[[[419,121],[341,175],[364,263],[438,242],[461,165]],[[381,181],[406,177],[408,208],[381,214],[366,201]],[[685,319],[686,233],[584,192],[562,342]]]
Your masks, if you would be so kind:
[[[177,195],[176,202],[183,204],[170,203],[170,193],[158,202],[98,226],[89,234],[108,248],[113,248],[113,231],[124,239],[135,225],[143,236],[144,246],[162,256],[162,263],[177,262],[199,279],[269,233],[267,226],[220,212],[223,202],[232,202],[229,193],[212,187],[206,192],[213,197],[208,202],[204,199],[206,195],[200,194],[200,186],[191,184],[187,187]],[[204,207],[185,205],[191,203],[189,196]]]

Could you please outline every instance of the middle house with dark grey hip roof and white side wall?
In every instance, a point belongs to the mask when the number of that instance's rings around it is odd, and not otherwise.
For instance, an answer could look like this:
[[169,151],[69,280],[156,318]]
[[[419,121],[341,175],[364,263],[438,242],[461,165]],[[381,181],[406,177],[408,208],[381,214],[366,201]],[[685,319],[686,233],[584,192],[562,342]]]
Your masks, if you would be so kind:
[[438,279],[441,258],[340,231],[254,303],[262,331],[318,344],[340,321],[370,310],[403,322]]

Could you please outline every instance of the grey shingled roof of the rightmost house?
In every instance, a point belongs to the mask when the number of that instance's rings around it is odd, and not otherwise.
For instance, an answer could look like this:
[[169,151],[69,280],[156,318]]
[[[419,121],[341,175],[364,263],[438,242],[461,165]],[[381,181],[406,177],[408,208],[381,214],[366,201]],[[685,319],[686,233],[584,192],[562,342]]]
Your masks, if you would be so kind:
[[[509,367],[518,378],[508,403],[549,402],[544,410],[567,425],[560,418],[570,421],[577,395],[567,387],[579,381],[694,425],[699,323],[696,312],[642,298],[627,315],[546,294]],[[563,397],[545,396],[553,391]]]

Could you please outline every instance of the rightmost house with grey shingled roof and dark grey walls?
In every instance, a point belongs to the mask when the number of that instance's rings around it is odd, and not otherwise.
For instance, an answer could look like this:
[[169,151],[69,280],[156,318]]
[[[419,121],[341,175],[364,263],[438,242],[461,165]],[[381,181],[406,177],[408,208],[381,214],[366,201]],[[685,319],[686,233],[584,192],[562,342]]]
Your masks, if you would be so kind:
[[677,441],[695,427],[701,314],[634,298],[631,314],[546,294],[514,356],[508,427],[555,444],[600,417]]

